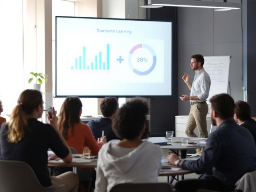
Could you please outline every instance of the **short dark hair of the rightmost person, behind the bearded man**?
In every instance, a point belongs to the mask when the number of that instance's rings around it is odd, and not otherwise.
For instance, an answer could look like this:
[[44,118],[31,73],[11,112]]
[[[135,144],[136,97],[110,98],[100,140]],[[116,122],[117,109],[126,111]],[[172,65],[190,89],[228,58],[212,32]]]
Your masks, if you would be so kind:
[[238,116],[238,119],[246,121],[251,119],[251,106],[244,101],[237,101],[235,103],[234,113]]

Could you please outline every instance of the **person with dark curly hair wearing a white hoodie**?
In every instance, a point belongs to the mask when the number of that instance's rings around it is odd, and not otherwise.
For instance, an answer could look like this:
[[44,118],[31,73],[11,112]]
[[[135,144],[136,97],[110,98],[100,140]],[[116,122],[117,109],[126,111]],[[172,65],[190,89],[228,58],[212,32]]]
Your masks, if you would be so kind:
[[119,183],[156,183],[161,169],[162,149],[142,141],[147,104],[135,99],[116,112],[113,131],[120,142],[106,143],[99,152],[95,191],[106,192]]

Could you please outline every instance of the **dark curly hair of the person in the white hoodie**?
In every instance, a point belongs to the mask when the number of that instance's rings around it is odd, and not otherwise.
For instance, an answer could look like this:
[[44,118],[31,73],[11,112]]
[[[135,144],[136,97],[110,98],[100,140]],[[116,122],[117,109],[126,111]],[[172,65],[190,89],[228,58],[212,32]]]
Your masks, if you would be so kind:
[[138,137],[146,122],[147,113],[148,105],[140,99],[124,104],[112,121],[112,129],[116,136],[128,140]]

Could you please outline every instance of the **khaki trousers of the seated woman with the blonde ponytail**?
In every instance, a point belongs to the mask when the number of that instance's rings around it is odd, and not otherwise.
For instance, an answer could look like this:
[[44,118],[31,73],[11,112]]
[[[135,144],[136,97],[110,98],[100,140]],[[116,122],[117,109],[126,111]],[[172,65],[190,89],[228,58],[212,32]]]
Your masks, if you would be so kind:
[[68,187],[68,192],[77,192],[79,179],[77,174],[69,171],[58,176],[50,176],[52,186],[65,184]]

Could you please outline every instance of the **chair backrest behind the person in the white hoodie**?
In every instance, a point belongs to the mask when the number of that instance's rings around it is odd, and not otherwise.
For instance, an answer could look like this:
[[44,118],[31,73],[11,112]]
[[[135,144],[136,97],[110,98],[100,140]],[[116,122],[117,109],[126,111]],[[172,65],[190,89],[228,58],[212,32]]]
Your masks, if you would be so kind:
[[110,192],[172,192],[168,183],[121,183],[117,184]]

